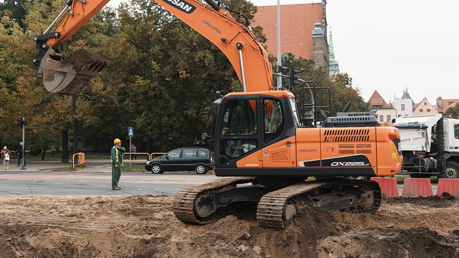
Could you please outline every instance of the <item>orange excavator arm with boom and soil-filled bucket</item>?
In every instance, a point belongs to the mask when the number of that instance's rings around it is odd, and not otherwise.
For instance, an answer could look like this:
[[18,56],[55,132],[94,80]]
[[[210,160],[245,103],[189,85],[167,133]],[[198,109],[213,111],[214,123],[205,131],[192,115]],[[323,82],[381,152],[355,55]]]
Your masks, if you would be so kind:
[[[53,93],[79,92],[91,77],[106,65],[103,59],[90,53],[73,56],[72,62],[57,53],[55,48],[72,37],[110,0],[69,0],[43,35],[36,36],[37,56],[44,85]],[[252,30],[238,23],[223,3],[215,0],[154,0],[178,19],[220,48],[234,67],[244,91],[274,89],[272,68],[268,54]],[[86,58],[86,64],[75,66],[75,59]],[[81,63],[81,62],[79,62]]]

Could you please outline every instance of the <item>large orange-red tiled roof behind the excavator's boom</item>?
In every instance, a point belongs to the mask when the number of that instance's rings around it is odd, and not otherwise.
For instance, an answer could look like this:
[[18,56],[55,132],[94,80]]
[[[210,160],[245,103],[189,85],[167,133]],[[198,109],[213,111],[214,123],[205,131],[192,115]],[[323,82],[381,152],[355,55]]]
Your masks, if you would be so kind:
[[[312,30],[322,22],[322,3],[281,6],[281,53],[312,59]],[[263,27],[268,53],[277,55],[277,6],[258,6],[254,25]],[[324,30],[326,32],[326,30]]]

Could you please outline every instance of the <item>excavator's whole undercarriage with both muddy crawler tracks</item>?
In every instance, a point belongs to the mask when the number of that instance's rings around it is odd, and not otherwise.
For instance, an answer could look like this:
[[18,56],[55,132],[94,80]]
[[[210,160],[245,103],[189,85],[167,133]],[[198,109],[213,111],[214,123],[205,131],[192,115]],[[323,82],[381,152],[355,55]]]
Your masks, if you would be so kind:
[[[302,181],[285,187],[265,178],[225,178],[178,192],[174,214],[180,221],[203,224],[257,205],[259,225],[285,228],[294,216],[309,208],[345,212],[376,212],[381,191],[366,180]],[[292,181],[295,182],[295,181]]]

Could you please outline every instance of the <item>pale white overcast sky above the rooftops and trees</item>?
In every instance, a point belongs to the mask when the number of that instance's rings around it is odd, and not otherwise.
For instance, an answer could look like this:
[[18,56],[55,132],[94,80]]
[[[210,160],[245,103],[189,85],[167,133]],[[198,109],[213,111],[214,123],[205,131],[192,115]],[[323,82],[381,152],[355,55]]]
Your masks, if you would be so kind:
[[[281,0],[311,2],[321,1]],[[327,20],[339,68],[353,77],[365,100],[375,90],[387,102],[394,94],[400,98],[404,86],[415,102],[459,98],[459,1],[328,0]]]

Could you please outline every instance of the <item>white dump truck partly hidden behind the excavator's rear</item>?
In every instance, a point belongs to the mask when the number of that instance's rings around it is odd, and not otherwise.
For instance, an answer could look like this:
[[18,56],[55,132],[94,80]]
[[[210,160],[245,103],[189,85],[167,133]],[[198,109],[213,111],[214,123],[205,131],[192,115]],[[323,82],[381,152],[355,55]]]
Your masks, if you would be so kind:
[[403,166],[415,178],[459,178],[459,120],[441,113],[396,118]]

